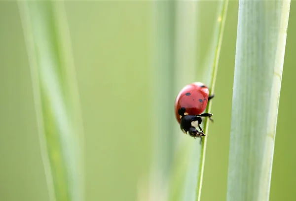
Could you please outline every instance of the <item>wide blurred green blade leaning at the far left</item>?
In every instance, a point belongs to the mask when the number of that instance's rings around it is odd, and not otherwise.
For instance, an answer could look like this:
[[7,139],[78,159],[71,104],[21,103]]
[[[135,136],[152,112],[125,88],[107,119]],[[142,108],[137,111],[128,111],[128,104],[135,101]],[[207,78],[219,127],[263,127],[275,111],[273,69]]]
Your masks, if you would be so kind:
[[19,1],[51,201],[82,201],[82,118],[62,1]]

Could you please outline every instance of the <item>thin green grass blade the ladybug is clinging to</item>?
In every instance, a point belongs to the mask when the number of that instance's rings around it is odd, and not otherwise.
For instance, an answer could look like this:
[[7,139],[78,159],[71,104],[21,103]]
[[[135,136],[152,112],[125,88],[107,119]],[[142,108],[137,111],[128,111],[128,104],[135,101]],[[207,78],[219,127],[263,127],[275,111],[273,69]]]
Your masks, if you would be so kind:
[[[217,34],[217,45],[215,49],[215,56],[214,56],[214,62],[213,62],[213,72],[212,72],[212,79],[211,83],[209,85],[210,87],[210,94],[214,93],[215,89],[215,82],[216,82],[216,75],[218,71],[218,62],[220,57],[220,50],[222,45],[222,38],[223,38],[223,32],[224,32],[224,25],[226,20],[226,14],[227,14],[227,7],[228,7],[228,0],[223,0],[221,5],[221,11],[220,15],[218,17],[218,34]],[[208,107],[206,109],[206,113],[209,113],[211,111],[211,105],[212,101],[209,101]],[[209,126],[209,120],[208,118],[204,121],[204,132],[208,133],[208,126]],[[203,143],[201,147],[201,157],[199,162],[199,168],[198,168],[198,174],[197,174],[197,189],[196,189],[196,201],[201,200],[201,189],[202,189],[202,180],[203,180],[203,172],[204,172],[204,166],[205,166],[205,155],[206,155],[206,146],[207,146],[207,137],[203,138]]]

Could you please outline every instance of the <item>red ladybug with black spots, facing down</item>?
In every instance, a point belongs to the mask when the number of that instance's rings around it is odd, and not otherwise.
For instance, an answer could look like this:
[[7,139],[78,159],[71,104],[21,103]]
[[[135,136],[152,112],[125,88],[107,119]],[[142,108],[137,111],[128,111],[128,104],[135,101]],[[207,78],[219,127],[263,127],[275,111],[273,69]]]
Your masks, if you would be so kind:
[[209,117],[213,121],[211,113],[202,113],[208,101],[214,98],[214,95],[209,96],[209,93],[209,88],[201,82],[188,84],[179,92],[175,101],[175,114],[183,133],[188,132],[194,138],[206,136],[200,124],[201,117]]

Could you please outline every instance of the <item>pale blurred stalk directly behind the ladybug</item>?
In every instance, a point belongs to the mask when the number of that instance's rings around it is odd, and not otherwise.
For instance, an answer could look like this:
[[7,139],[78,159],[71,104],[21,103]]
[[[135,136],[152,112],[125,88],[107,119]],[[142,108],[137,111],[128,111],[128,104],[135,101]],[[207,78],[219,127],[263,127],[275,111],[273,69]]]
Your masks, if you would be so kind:
[[[197,4],[196,0],[175,1],[175,73],[174,73],[174,103],[179,91],[187,84],[196,81],[197,53]],[[171,103],[171,104],[172,104]],[[171,110],[174,109],[172,104]],[[174,114],[173,114],[174,115]],[[177,139],[174,150],[174,160],[170,175],[170,201],[194,200],[196,185],[196,155],[200,147],[198,140],[185,136],[180,130],[174,115],[174,138]],[[194,154],[192,154],[194,153]],[[199,156],[199,155],[197,155]],[[193,178],[193,179],[192,179]]]

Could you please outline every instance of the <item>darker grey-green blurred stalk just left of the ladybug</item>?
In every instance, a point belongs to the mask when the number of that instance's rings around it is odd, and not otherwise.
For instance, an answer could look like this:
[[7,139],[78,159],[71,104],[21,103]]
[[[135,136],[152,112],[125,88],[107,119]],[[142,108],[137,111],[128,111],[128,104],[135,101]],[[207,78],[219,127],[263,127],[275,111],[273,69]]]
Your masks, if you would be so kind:
[[150,201],[166,201],[168,177],[174,154],[174,20],[173,0],[153,2],[153,74],[152,111],[154,141],[150,177]]

